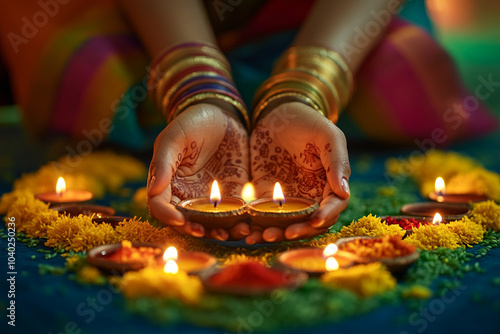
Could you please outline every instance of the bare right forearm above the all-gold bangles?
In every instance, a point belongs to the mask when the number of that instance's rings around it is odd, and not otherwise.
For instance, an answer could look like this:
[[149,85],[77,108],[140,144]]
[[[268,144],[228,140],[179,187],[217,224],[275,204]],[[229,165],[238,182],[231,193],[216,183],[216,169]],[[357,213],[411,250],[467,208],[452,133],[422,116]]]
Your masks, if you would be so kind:
[[317,0],[294,41],[337,51],[356,72],[404,0]]

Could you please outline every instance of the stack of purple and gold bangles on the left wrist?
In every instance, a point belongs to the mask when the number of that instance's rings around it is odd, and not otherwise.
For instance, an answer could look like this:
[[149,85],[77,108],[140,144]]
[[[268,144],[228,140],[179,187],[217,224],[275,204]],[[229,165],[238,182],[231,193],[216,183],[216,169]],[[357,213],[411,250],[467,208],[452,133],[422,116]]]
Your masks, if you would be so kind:
[[151,100],[171,122],[189,106],[207,99],[228,102],[250,128],[248,112],[222,52],[202,43],[184,43],[159,54],[148,81]]

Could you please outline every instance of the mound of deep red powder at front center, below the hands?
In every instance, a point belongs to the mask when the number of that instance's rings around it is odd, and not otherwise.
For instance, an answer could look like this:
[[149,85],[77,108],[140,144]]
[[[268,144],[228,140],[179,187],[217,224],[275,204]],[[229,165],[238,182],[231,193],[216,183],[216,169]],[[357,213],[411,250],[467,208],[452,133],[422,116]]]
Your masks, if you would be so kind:
[[209,278],[214,286],[279,288],[289,283],[287,275],[258,262],[229,265]]

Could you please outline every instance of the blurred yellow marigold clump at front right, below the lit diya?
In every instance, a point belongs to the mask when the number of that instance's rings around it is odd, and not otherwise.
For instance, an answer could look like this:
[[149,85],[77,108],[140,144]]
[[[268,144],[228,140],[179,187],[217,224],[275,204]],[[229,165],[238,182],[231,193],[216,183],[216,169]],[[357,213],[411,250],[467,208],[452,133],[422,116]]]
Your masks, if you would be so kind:
[[361,297],[370,297],[396,287],[396,279],[380,262],[331,271],[324,274],[321,281],[348,289]]

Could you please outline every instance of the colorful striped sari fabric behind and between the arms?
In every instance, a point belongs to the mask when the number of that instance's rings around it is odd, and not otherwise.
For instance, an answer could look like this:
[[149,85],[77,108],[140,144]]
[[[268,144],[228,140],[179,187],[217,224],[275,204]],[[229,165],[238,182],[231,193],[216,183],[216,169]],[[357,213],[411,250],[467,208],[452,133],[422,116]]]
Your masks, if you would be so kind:
[[[247,104],[311,4],[267,1],[245,27],[220,33]],[[273,19],[277,13],[279,20]],[[150,57],[114,0],[8,2],[0,31],[2,58],[31,134],[150,147],[157,132],[149,129],[164,125],[147,98]],[[356,95],[339,126],[348,138],[363,133],[381,142],[441,145],[496,126],[473,98],[440,46],[419,28],[395,20],[358,73]],[[457,104],[465,112],[453,111]]]

